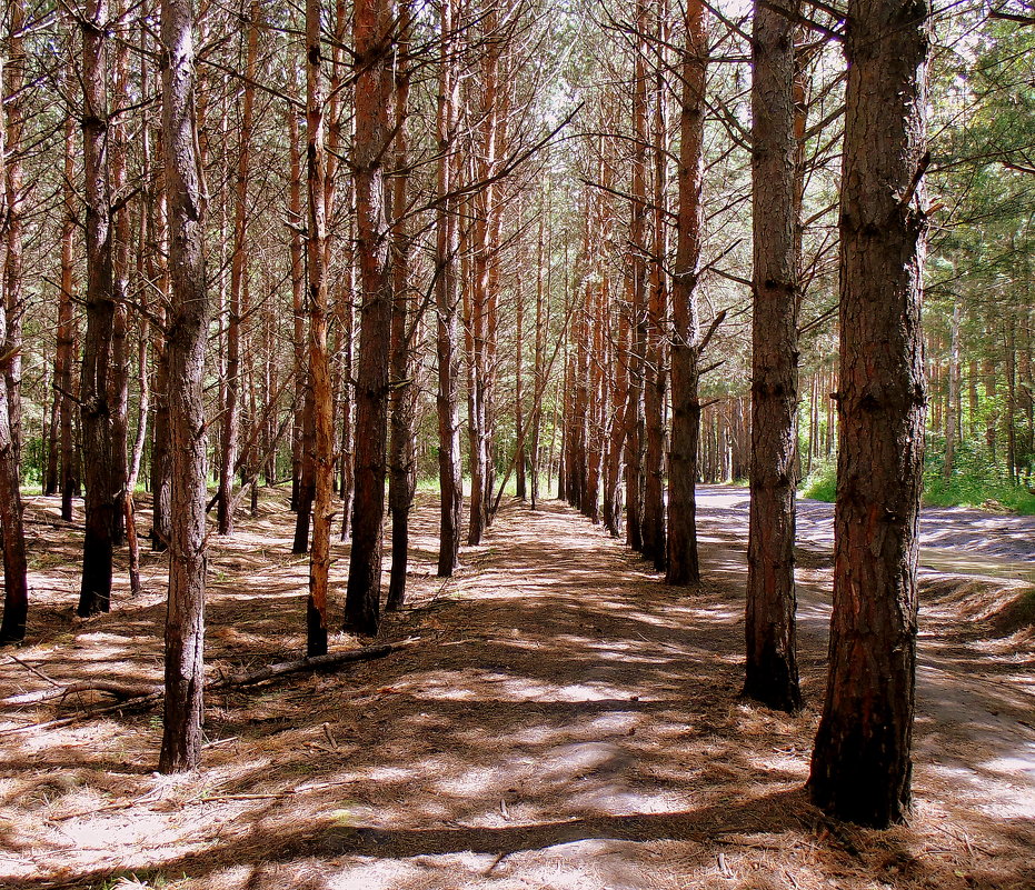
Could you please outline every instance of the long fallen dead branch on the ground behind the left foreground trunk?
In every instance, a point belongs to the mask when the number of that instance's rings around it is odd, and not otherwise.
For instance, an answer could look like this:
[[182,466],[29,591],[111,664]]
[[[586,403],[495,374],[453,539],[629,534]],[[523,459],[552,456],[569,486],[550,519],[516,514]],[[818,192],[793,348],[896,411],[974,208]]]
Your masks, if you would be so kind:
[[[350,649],[347,652],[334,652],[326,656],[317,656],[316,658],[302,658],[298,659],[297,661],[282,661],[277,664],[268,664],[267,667],[259,668],[256,671],[231,673],[227,677],[221,677],[216,681],[208,682],[205,686],[208,691],[239,689],[240,687],[255,686],[256,683],[262,683],[267,680],[273,680],[278,677],[287,677],[295,673],[335,670],[336,668],[340,668],[345,664],[351,664],[357,661],[372,661],[378,658],[384,658],[385,656],[391,654],[392,652],[398,652],[400,649],[406,649],[410,646],[414,646],[419,641],[420,638],[411,637],[410,639],[401,640],[400,642],[395,643],[380,643],[378,646],[367,646],[362,649]],[[108,692],[109,694],[119,697],[120,694],[127,693],[128,690],[128,687],[120,687],[118,683],[93,682],[73,683],[70,687],[67,687],[63,691],[66,693],[99,691]],[[118,701],[115,704],[106,704],[100,708],[89,708],[78,714],[73,714],[71,717],[61,717],[57,720],[48,720],[42,723],[27,723],[26,726],[21,727],[13,727],[11,729],[0,731],[0,736],[16,736],[22,732],[31,732],[40,729],[56,729],[58,727],[64,727],[70,723],[74,723],[79,720],[88,720],[92,717],[102,717],[103,714],[115,713],[116,711],[145,710],[160,702],[162,697],[162,690],[158,687],[152,687],[150,688],[150,691],[143,694],[122,698],[121,701]]]

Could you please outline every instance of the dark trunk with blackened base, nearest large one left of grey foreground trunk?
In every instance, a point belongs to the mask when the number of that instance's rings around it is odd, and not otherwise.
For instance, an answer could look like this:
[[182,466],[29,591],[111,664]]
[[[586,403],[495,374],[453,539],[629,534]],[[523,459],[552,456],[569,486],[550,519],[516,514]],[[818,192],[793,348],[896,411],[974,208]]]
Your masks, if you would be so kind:
[[112,533],[118,493],[109,402],[115,301],[108,170],[107,28],[107,0],[89,0],[86,16],[80,21],[87,241],[87,334],[80,390],[86,482],[86,538],[78,609],[82,617],[110,609]]

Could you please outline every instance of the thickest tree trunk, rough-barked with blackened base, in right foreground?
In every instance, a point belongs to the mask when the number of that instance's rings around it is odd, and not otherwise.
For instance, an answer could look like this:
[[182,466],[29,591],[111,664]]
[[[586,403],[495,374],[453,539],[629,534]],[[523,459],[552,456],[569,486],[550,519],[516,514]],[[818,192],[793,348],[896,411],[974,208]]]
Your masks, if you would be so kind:
[[927,14],[852,0],[845,43],[834,616],[809,787],[826,812],[874,827],[910,800]]

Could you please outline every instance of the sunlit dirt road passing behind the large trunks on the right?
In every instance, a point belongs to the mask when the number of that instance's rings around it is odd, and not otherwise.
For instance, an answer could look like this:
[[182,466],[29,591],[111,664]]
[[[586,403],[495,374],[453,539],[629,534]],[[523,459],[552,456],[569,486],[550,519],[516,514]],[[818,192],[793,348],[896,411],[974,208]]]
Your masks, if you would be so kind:
[[[732,589],[746,572],[748,499],[746,488],[698,490],[706,571]],[[834,506],[798,501],[798,516],[799,647],[825,651]],[[1035,819],[1035,636],[1029,614],[1026,632],[1002,620],[1004,604],[1019,603],[1035,581],[1035,518],[928,508],[920,541],[918,769],[948,777],[954,793]]]

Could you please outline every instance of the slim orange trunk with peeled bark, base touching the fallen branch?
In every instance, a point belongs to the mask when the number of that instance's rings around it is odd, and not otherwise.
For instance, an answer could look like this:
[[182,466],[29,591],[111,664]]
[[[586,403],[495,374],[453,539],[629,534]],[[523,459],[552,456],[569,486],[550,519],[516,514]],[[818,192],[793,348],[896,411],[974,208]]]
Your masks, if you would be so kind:
[[321,0],[306,0],[306,182],[309,238],[306,268],[309,284],[309,379],[312,389],[314,501],[312,548],[309,552],[309,599],[306,606],[306,654],[327,653],[327,579],[330,572],[331,494],[335,474],[334,399],[327,354],[327,200]]

